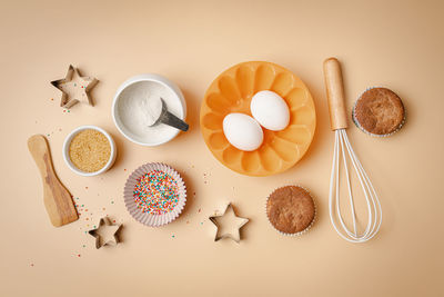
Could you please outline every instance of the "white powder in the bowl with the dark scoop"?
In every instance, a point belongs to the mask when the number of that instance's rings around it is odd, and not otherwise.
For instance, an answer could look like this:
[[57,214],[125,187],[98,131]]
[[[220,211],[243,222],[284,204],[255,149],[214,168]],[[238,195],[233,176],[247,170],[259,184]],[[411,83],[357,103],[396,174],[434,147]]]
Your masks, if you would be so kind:
[[175,115],[182,115],[182,106],[176,95],[157,81],[138,81],[128,86],[120,95],[117,103],[117,116],[127,133],[140,142],[162,142],[172,138],[176,129],[168,125],[153,125],[159,118],[162,98],[167,109]]

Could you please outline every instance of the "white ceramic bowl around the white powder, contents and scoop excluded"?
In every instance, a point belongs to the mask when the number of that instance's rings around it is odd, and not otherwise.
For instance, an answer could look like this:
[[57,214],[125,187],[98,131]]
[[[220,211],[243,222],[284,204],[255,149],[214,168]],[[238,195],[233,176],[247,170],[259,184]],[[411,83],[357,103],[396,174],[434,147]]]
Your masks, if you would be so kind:
[[[154,83],[160,83],[163,87],[165,87],[168,91],[171,92],[171,97],[172,97],[174,105],[176,106],[176,110],[170,110],[170,111],[174,111],[173,113],[178,118],[185,120],[186,102],[182,95],[182,91],[171,80],[169,80],[162,76],[153,75],[153,73],[135,76],[135,77],[132,77],[132,78],[128,79],[127,81],[124,81],[119,87],[118,91],[115,92],[111,112],[112,112],[112,118],[114,120],[115,126],[118,127],[119,131],[127,139],[131,140],[132,142],[135,142],[138,145],[141,145],[141,146],[153,147],[153,146],[160,146],[162,143],[170,141],[171,139],[173,139],[174,137],[178,136],[180,130],[172,128],[172,127],[168,127],[167,128],[168,131],[165,131],[165,129],[164,129],[161,137],[157,137],[155,139],[141,136],[140,133],[134,132],[134,130],[131,130],[130,127],[127,127],[124,125],[122,118],[120,117],[121,115],[120,115],[120,109],[119,109],[120,101],[127,100],[125,96],[128,96],[128,95],[125,95],[125,93],[130,92],[132,89],[147,88],[147,91],[148,91],[148,85],[145,83],[148,81],[154,82]],[[155,129],[155,128],[152,128],[152,129]]]

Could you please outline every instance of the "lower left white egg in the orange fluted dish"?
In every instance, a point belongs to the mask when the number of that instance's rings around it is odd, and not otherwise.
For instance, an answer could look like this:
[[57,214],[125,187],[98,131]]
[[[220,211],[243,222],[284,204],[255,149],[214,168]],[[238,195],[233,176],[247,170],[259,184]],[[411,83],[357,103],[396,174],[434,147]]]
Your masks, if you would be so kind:
[[223,119],[223,133],[240,150],[255,150],[263,141],[259,122],[244,113],[230,113]]

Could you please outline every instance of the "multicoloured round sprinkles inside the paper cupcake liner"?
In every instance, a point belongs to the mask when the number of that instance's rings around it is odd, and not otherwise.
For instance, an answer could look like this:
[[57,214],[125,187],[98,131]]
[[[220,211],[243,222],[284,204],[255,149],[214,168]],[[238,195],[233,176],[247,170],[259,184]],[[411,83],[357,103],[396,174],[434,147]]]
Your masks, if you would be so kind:
[[142,212],[151,215],[170,212],[179,201],[178,182],[161,170],[150,171],[138,178],[133,198]]

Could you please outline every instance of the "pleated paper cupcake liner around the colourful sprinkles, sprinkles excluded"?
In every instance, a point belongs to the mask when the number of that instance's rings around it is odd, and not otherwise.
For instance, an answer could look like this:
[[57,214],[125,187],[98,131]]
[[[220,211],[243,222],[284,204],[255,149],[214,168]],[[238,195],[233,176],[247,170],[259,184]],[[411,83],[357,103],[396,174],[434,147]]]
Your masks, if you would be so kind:
[[[143,212],[141,209],[138,208],[138,205],[134,200],[133,190],[135,184],[138,182],[138,178],[153,170],[160,170],[162,172],[165,172],[170,175],[178,182],[179,187],[178,205],[170,212],[162,215],[152,215],[149,212]],[[140,166],[130,175],[130,177],[127,179],[123,189],[123,199],[128,211],[137,221],[147,226],[159,227],[173,221],[182,212],[183,207],[185,206],[186,202],[186,187],[182,177],[173,168],[171,168],[165,164],[151,162]]]

